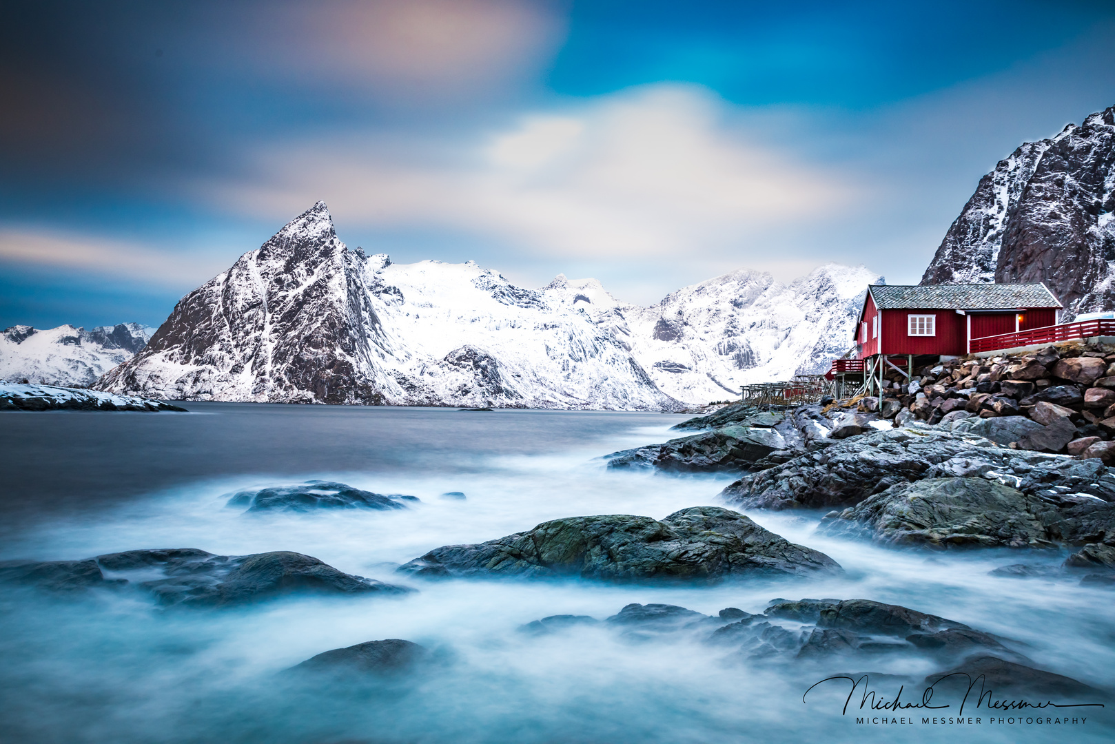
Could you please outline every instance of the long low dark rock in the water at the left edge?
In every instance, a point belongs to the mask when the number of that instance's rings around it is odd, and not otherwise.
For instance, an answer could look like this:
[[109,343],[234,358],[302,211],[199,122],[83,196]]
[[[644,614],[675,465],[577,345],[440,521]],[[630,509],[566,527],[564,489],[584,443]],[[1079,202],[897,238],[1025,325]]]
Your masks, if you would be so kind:
[[[107,572],[107,577],[106,577]],[[158,578],[152,578],[152,573]],[[338,571],[294,552],[214,555],[195,548],[129,550],[86,561],[9,563],[0,580],[45,589],[134,584],[161,605],[232,607],[290,593],[396,595],[404,587]]]

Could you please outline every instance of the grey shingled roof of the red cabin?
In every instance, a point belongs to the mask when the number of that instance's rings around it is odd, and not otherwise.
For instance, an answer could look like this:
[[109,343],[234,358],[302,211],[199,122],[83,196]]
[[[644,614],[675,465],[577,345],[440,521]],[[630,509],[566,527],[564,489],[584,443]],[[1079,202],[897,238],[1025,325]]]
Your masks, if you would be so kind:
[[872,284],[867,288],[880,310],[1014,310],[1059,308],[1060,302],[1038,284]]

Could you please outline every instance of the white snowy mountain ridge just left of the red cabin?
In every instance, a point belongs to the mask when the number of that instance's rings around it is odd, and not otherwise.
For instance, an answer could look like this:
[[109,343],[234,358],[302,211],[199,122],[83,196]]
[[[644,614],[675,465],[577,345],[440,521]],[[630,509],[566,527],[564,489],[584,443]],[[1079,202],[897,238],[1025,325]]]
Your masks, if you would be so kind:
[[594,279],[559,277],[543,292],[584,308],[665,393],[704,403],[738,395],[740,385],[826,369],[851,346],[866,286],[879,280],[835,263],[789,284],[740,269],[649,308],[617,301]]

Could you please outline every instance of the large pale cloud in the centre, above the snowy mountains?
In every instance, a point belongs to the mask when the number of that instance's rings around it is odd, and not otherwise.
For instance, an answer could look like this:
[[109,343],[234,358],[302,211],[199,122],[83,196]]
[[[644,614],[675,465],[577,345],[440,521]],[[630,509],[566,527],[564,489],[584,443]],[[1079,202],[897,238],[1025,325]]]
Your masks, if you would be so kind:
[[[661,85],[526,113],[432,161],[428,143],[272,143],[250,176],[198,183],[215,204],[282,219],[324,199],[343,221],[465,231],[533,257],[740,252],[748,235],[826,219],[861,186],[733,126],[701,88]],[[770,257],[759,257],[769,259]]]

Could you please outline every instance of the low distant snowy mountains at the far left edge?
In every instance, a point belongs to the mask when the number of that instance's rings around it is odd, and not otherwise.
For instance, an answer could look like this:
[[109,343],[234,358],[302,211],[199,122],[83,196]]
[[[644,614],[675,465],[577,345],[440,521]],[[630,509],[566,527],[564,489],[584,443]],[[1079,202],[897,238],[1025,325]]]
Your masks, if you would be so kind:
[[139,323],[90,331],[74,326],[46,330],[12,326],[0,334],[0,379],[88,387],[139,351],[151,330]]

